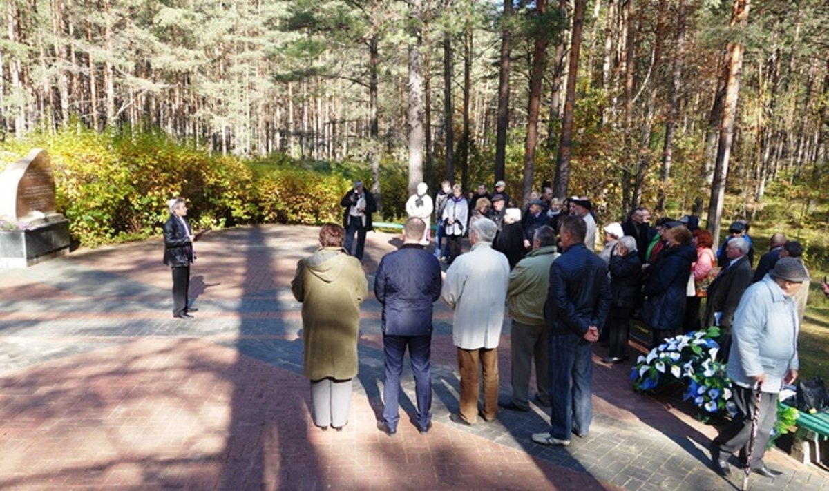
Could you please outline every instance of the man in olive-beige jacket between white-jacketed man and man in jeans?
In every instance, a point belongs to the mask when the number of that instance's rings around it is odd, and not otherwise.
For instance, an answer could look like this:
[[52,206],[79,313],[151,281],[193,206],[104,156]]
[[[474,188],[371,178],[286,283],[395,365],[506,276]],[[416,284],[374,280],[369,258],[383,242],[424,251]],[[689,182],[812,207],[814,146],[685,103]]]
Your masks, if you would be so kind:
[[536,229],[532,250],[510,272],[507,305],[512,318],[510,331],[512,363],[512,397],[498,401],[498,406],[512,411],[530,411],[529,389],[532,359],[536,358],[536,401],[550,406],[547,394],[547,339],[544,303],[550,286],[550,265],[559,253],[555,249],[555,230],[550,226]]

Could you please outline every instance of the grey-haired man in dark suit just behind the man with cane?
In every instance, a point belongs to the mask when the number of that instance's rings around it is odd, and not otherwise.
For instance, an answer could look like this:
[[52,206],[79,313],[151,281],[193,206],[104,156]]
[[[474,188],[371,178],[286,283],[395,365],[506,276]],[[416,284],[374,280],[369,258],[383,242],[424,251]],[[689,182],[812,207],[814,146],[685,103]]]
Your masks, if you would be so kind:
[[705,305],[705,327],[720,326],[719,356],[727,361],[731,346],[731,323],[740,297],[751,285],[754,272],[749,263],[749,242],[743,237],[734,237],[725,246],[729,262],[720,270],[720,275],[708,287]]

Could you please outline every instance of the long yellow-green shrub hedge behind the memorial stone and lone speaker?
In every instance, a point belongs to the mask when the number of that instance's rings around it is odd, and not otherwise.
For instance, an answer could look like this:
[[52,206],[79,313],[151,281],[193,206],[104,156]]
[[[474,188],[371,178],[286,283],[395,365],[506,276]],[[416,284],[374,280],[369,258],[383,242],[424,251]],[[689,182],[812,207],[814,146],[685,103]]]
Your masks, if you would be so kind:
[[[84,246],[160,235],[171,197],[187,197],[188,218],[198,227],[261,221],[315,225],[341,220],[340,199],[352,178],[371,186],[366,169],[356,164],[318,171],[314,163],[280,154],[246,160],[128,128],[104,134],[71,128],[7,141],[0,146],[0,169],[32,148],[49,153],[58,211]],[[386,172],[399,169],[390,166]],[[402,183],[402,189],[388,190],[390,196],[405,194],[405,176],[390,176],[389,182]]]

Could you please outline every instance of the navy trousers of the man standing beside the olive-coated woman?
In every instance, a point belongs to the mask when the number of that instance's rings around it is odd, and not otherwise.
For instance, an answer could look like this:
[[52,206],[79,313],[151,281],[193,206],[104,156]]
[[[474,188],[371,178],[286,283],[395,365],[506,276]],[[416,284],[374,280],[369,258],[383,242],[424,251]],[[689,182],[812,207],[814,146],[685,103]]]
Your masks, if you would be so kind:
[[409,347],[414,394],[417,398],[417,424],[425,430],[432,421],[432,373],[429,358],[432,353],[432,335],[386,336],[383,335],[385,381],[383,382],[383,420],[391,430],[400,421],[400,374],[403,372],[403,356]]

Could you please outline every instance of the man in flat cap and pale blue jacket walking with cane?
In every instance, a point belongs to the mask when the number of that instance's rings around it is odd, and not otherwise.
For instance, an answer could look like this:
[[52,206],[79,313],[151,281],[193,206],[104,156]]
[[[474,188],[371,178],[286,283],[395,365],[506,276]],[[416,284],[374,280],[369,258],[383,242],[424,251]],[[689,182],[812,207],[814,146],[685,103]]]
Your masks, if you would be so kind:
[[768,438],[777,420],[780,387],[797,378],[797,320],[793,296],[808,280],[806,268],[799,260],[784,257],[763,280],[745,290],[734,314],[733,343],[728,376],[734,386],[737,414],[711,441],[711,466],[717,474],[731,470],[725,454],[748,452],[754,398],[760,393],[757,439],[751,470],[774,478],[781,473],[768,469],[763,462]]

